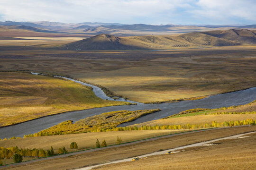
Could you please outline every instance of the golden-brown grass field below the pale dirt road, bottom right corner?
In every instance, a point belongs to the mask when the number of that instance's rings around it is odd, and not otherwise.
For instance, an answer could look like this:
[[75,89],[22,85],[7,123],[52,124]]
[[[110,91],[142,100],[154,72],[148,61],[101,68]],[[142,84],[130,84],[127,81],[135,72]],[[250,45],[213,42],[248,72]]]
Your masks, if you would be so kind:
[[150,156],[148,159],[110,164],[97,170],[254,170],[256,133],[217,145],[192,147],[185,152]]

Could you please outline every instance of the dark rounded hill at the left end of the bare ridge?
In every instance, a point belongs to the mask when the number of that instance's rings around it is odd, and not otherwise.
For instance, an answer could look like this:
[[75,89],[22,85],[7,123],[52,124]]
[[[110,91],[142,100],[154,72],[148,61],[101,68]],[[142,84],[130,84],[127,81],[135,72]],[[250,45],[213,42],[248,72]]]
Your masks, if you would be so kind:
[[69,50],[140,50],[146,47],[126,38],[116,37],[109,34],[99,34],[77,42],[64,45]]

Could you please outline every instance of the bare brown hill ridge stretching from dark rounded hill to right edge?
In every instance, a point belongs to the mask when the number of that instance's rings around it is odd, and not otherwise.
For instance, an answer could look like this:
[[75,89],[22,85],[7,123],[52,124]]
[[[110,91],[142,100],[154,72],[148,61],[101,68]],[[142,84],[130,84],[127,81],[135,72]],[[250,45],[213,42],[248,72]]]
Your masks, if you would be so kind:
[[256,31],[247,29],[191,32],[180,35],[146,35],[117,37],[99,34],[63,46],[68,50],[141,50],[168,49],[171,47],[201,47],[256,44]]

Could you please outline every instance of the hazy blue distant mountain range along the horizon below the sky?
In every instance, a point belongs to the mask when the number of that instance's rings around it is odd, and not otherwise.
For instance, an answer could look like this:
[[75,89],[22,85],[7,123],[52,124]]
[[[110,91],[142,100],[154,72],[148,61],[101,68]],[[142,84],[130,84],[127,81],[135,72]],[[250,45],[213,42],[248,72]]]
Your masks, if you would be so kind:
[[[68,34],[68,36],[93,36],[97,34],[111,34],[115,36],[131,36],[131,35],[171,35],[171,34],[185,34],[191,32],[205,32],[229,29],[243,29],[255,30],[256,25],[248,26],[182,26],[182,25],[146,25],[146,24],[132,24],[124,25],[119,23],[78,23],[78,24],[65,24],[59,22],[15,22],[5,21],[0,22],[0,28],[6,29],[19,29],[31,31],[16,33],[16,35],[24,36],[26,34],[37,33],[50,33],[50,34]],[[11,32],[9,32],[11,33]],[[213,33],[212,33],[213,34]],[[209,33],[209,35],[212,36]],[[0,35],[1,36],[1,35]],[[6,36],[6,33],[2,36]],[[12,34],[8,34],[12,36]],[[61,35],[59,35],[61,36]],[[221,37],[219,37],[221,38]]]

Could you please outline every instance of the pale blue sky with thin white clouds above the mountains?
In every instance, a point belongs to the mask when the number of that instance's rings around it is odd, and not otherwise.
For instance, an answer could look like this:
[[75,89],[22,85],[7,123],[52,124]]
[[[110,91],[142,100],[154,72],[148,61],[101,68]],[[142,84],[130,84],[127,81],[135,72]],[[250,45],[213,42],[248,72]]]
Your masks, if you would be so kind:
[[256,24],[256,0],[0,0],[0,21]]

